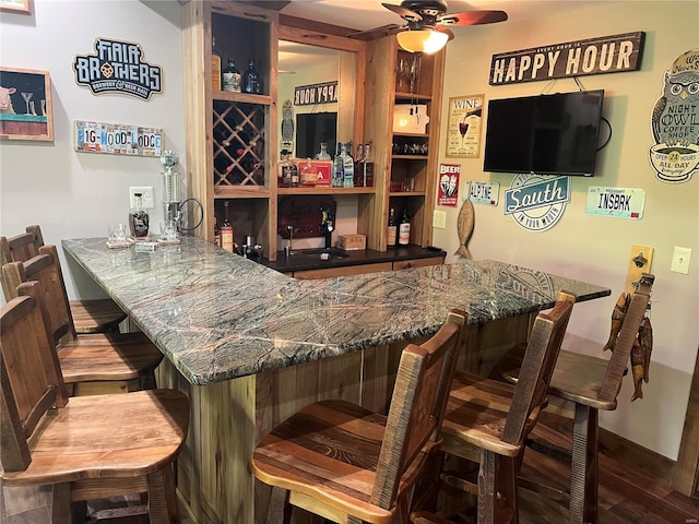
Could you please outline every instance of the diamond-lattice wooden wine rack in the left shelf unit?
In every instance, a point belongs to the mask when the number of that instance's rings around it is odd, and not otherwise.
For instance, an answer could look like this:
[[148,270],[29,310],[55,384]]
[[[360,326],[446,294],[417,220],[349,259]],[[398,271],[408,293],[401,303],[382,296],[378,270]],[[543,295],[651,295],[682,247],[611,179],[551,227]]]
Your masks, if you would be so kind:
[[264,186],[264,106],[214,100],[214,186]]

